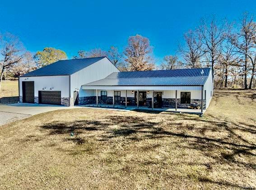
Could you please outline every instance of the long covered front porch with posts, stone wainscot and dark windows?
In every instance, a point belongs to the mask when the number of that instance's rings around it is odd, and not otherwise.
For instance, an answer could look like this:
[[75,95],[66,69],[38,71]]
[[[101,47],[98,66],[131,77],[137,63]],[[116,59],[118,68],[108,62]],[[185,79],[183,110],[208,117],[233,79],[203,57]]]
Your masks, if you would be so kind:
[[[82,86],[80,91],[80,106],[200,115],[206,107],[203,86]],[[189,109],[191,105],[193,109]]]

